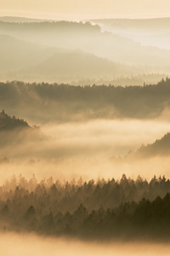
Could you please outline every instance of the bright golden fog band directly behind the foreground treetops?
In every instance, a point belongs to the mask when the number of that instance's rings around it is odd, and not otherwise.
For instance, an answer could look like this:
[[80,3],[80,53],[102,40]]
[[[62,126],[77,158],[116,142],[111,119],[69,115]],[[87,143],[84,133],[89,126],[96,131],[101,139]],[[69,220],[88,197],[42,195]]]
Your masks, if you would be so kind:
[[54,177],[61,181],[72,178],[78,180],[82,177],[83,180],[88,181],[91,178],[97,180],[98,178],[118,178],[125,173],[127,177],[136,178],[139,175],[143,178],[151,179],[156,175],[169,176],[169,157],[154,157],[151,159],[140,159],[136,161],[122,161],[115,160],[88,160],[88,159],[60,159],[60,160],[35,160],[29,159],[24,162],[21,160],[6,160],[2,159],[0,164],[1,183],[15,174],[19,176],[22,174],[26,178],[30,178],[35,174],[37,180],[40,182],[43,178]]

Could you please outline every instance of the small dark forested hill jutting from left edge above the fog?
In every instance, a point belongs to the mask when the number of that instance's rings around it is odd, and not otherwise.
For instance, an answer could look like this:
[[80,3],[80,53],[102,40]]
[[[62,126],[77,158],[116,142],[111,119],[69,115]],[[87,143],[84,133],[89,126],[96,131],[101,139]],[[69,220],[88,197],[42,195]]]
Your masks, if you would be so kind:
[[7,113],[0,112],[0,131],[10,131],[14,129],[31,129],[31,126],[24,119],[11,118]]

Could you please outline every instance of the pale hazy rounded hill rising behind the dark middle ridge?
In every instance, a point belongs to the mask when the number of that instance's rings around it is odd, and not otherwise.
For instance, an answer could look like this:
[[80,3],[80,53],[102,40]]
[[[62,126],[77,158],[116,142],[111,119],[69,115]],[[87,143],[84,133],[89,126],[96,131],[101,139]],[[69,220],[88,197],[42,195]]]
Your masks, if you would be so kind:
[[[54,55],[47,60],[42,61],[35,67],[31,67],[23,73],[29,76],[37,76],[37,78],[47,79],[51,76],[59,78],[101,78],[103,76],[114,77],[124,75],[132,75],[135,68],[100,58],[96,55],[85,53],[81,50],[72,51],[56,51]],[[57,79],[58,81],[58,79]]]

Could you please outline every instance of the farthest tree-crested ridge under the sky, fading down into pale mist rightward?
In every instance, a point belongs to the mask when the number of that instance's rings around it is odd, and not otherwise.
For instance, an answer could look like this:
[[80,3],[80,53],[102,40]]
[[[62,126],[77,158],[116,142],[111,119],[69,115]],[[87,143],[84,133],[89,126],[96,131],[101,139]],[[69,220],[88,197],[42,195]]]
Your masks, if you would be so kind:
[[[164,67],[170,65],[170,51],[144,47],[119,34],[102,32],[90,22],[0,22],[0,34],[6,34],[49,47],[82,49],[126,65]],[[162,71],[161,71],[162,73]]]

